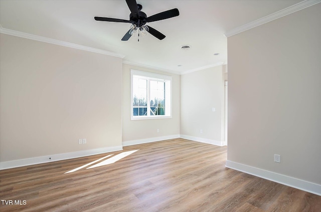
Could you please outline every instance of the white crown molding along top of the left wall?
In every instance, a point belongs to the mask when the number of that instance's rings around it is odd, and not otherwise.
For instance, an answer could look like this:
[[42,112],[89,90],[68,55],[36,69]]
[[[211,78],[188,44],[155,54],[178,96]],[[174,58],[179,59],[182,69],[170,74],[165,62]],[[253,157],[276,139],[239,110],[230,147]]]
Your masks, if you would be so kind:
[[114,52],[109,52],[109,51],[105,51],[105,50],[101,50],[101,49],[95,49],[92,47],[86,47],[86,46],[73,44],[73,43],[69,43],[69,42],[65,42],[65,41],[59,41],[59,40],[46,38],[46,37],[42,37],[42,36],[36,36],[36,35],[23,33],[23,32],[19,32],[19,31],[15,31],[15,30],[5,29],[1,25],[0,25],[0,33],[12,35],[12,36],[17,36],[17,37],[21,37],[21,38],[26,38],[26,39],[31,39],[31,40],[35,40],[35,41],[45,42],[45,43],[49,43],[49,44],[55,44],[55,45],[59,45],[59,46],[69,47],[69,48],[73,48],[73,49],[94,52],[94,53],[98,53],[98,54],[102,54],[102,55],[109,55],[109,56],[113,56],[113,57],[117,57],[117,58],[124,58],[125,57],[125,55],[114,53]]

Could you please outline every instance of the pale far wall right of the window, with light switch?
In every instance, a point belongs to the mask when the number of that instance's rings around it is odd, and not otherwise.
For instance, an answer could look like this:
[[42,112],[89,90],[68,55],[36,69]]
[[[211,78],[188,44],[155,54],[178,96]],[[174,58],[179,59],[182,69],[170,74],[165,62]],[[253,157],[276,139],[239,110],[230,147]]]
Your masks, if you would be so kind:
[[224,68],[216,66],[181,75],[182,137],[224,143]]

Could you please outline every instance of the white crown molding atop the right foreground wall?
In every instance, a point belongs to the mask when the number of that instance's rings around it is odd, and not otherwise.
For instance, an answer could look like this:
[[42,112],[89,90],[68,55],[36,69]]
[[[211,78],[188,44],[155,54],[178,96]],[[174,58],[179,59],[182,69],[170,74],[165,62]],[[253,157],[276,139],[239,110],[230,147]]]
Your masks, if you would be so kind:
[[265,16],[265,17],[263,17],[261,19],[258,19],[256,21],[250,22],[250,23],[248,23],[246,25],[243,25],[241,27],[235,28],[234,30],[229,31],[229,32],[225,33],[224,35],[227,38],[231,37],[231,36],[234,36],[236,34],[239,34],[239,33],[242,33],[244,31],[247,31],[249,29],[252,29],[254,27],[257,27],[257,26],[260,26],[262,24],[265,24],[265,23],[268,23],[270,21],[273,21],[275,19],[279,19],[279,18],[281,18],[283,16],[287,16],[287,15],[289,15],[291,13],[295,13],[297,11],[303,10],[303,9],[308,8],[310,6],[316,5],[316,4],[320,3],[320,2],[321,2],[321,0],[305,0],[305,1],[299,2],[299,3],[295,4],[295,5],[292,5],[292,6],[288,7],[288,8],[280,10],[280,11],[278,11],[276,13],[272,13],[272,14],[270,14],[268,16]]

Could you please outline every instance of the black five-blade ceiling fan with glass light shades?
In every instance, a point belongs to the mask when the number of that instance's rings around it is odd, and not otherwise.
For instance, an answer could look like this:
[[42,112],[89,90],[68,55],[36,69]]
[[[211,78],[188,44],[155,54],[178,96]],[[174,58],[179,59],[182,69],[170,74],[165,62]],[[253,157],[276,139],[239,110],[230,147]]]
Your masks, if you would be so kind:
[[155,14],[153,16],[147,17],[144,12],[141,11],[142,6],[136,3],[136,0],[126,0],[127,6],[130,10],[129,20],[123,19],[114,19],[114,18],[105,18],[105,17],[95,17],[96,21],[103,22],[121,22],[121,23],[131,23],[131,27],[128,32],[121,39],[122,41],[128,41],[128,39],[138,31],[138,41],[139,35],[144,36],[150,33],[152,36],[156,37],[159,40],[163,40],[166,36],[161,32],[153,29],[146,25],[149,22],[161,21],[164,19],[170,19],[180,15],[180,12],[177,8],[164,11],[162,13]]

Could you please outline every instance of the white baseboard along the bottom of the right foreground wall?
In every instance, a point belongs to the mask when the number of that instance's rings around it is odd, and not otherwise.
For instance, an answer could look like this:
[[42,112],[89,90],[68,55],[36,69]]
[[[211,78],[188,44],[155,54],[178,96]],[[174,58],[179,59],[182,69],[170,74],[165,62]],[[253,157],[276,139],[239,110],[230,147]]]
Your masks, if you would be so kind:
[[226,160],[226,167],[321,196],[321,185],[294,177]]

